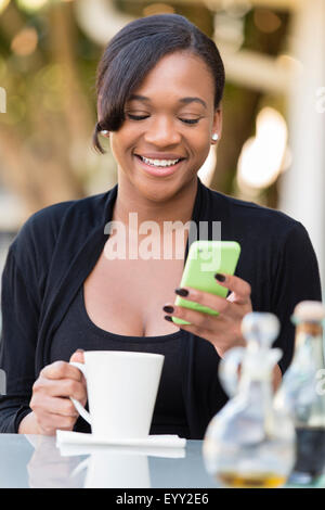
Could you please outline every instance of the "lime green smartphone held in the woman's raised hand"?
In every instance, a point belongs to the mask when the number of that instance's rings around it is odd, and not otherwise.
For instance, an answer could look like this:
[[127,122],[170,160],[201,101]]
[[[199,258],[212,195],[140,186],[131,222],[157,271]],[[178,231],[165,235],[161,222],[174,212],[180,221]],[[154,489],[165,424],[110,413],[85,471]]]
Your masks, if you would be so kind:
[[[194,241],[188,250],[180,286],[192,286],[199,291],[209,292],[226,297],[227,289],[219,285],[216,272],[234,275],[240,254],[240,245],[236,241]],[[218,311],[193,301],[177,296],[174,304],[184,308],[219,315]],[[176,324],[191,324],[183,319],[172,317]]]

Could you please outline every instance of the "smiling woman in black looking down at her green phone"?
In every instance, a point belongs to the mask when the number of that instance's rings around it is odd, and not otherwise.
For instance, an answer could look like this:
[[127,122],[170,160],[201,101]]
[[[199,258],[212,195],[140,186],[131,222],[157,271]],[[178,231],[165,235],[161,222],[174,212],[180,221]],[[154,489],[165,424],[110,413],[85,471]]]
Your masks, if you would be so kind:
[[[109,138],[118,186],[40,211],[9,250],[2,432],[89,431],[68,398],[87,400],[84,381],[68,361],[82,361],[78,349],[121,349],[165,355],[151,433],[202,438],[226,401],[218,362],[225,350],[244,345],[240,321],[251,309],[273,311],[282,322],[276,344],[284,356],[274,374],[281,380],[292,354],[294,307],[321,298],[317,263],[299,222],[211,191],[197,178],[221,136],[223,85],[214,43],[182,16],[134,21],[109,42],[99,66],[94,145],[102,150],[100,131]],[[181,257],[141,257],[138,247],[134,255],[147,220],[159,227],[153,239],[160,246],[167,221],[179,221],[183,232],[190,220],[207,221],[208,239],[212,222],[221,221],[222,239],[242,245],[236,276],[216,277],[229,297],[177,289],[186,232],[181,246],[172,238],[173,255]],[[126,258],[112,257],[118,243],[116,232],[108,235],[109,221],[125,227]],[[220,315],[176,307],[176,294]],[[179,328],[171,316],[191,326]]]

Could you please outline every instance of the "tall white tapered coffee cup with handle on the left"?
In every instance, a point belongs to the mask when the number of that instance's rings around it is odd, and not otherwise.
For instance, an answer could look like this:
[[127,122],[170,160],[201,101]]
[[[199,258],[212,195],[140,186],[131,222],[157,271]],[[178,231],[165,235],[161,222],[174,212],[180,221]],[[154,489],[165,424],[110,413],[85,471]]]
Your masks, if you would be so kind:
[[70,365],[86,378],[89,412],[72,400],[92,434],[109,439],[147,437],[165,357],[125,350],[87,350],[83,355],[84,365]]

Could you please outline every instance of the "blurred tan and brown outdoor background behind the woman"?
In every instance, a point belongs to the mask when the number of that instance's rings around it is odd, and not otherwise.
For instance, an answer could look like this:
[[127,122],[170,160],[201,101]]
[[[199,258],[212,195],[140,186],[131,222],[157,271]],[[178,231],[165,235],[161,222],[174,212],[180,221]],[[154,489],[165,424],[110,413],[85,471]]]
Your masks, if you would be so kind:
[[0,269],[34,212],[116,183],[109,148],[91,146],[95,69],[116,31],[158,13],[186,16],[225,64],[202,180],[301,221],[324,281],[324,0],[0,0]]

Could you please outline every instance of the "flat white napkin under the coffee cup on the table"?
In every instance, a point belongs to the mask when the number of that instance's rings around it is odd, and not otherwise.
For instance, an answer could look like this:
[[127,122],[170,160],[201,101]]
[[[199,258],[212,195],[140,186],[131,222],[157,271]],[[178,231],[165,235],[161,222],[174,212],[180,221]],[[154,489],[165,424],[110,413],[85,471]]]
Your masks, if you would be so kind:
[[148,435],[139,439],[109,439],[82,432],[56,431],[56,446],[63,444],[75,445],[107,445],[107,446],[145,446],[164,448],[184,448],[186,439],[178,435]]

